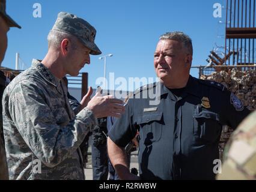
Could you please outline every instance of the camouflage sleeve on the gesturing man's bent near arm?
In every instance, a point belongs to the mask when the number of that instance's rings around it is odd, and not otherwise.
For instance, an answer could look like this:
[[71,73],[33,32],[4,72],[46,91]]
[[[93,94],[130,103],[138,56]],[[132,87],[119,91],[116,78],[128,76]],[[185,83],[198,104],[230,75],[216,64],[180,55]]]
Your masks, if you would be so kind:
[[43,87],[23,80],[11,92],[8,110],[32,152],[46,166],[54,167],[78,149],[95,124],[95,118],[93,112],[85,107],[75,119],[61,127],[59,124],[67,118],[63,114],[54,116],[46,97],[50,95]]

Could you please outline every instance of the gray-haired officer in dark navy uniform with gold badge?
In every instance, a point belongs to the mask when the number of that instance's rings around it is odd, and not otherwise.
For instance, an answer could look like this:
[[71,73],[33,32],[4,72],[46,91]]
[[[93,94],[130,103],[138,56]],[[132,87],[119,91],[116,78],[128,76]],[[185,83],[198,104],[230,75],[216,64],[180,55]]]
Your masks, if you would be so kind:
[[[225,86],[190,76],[192,54],[183,32],[160,36],[154,52],[160,82],[135,91],[109,133],[109,158],[120,179],[215,179],[222,125],[236,128],[249,110]],[[152,91],[159,104],[145,97]],[[123,150],[137,130],[139,177],[127,169]]]

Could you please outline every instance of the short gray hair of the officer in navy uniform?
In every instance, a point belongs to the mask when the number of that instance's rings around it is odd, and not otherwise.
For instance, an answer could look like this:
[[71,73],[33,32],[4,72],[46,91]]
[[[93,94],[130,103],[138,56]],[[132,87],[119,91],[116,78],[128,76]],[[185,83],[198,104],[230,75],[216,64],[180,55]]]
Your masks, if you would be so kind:
[[193,55],[193,46],[191,38],[180,31],[166,32],[159,37],[159,40],[175,40],[183,44],[188,53]]

